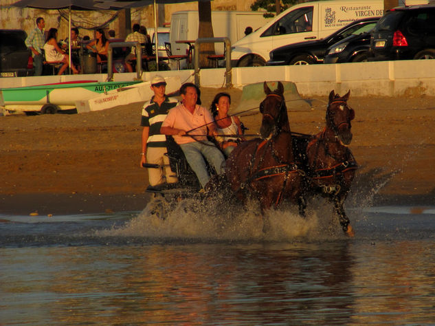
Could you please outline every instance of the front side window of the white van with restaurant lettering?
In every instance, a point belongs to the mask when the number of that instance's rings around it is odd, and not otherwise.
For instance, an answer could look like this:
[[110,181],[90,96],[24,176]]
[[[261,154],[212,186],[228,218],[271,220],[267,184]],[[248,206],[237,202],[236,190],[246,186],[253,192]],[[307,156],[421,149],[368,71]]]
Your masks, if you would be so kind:
[[293,10],[271,25],[261,37],[309,32],[313,30],[313,7]]

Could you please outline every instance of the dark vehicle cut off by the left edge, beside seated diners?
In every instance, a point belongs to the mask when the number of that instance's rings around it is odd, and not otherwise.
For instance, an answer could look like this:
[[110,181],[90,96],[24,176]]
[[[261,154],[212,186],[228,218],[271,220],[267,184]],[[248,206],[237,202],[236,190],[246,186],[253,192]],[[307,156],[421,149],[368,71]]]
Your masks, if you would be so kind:
[[23,30],[0,30],[0,77],[30,76],[33,69],[30,50],[25,46]]

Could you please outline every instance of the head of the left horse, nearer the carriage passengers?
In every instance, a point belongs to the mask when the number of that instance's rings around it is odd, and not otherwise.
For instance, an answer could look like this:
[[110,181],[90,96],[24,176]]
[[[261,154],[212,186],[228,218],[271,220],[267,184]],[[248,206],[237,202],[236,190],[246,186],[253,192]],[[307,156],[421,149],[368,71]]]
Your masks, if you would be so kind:
[[280,131],[288,129],[289,118],[287,117],[287,107],[285,106],[284,86],[278,82],[278,88],[274,91],[269,89],[267,83],[264,84],[266,98],[260,103],[260,112],[263,120],[260,127],[260,135],[263,138],[269,135],[278,135]]

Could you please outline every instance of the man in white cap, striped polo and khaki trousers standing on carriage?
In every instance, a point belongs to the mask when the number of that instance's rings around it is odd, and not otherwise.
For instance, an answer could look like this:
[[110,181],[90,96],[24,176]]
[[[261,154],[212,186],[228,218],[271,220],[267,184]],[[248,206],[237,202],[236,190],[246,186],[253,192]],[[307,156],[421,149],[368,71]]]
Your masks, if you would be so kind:
[[[142,109],[141,125],[144,127],[142,131],[142,157],[140,166],[144,163],[150,164],[169,164],[169,159],[166,149],[166,135],[160,133],[161,122],[166,118],[168,111],[178,104],[177,99],[166,96],[166,81],[163,77],[155,75],[151,80],[151,90],[154,96],[145,103]],[[148,177],[150,186],[159,184],[173,184],[177,182],[177,177],[170,170],[169,166],[164,169],[148,169]],[[164,175],[165,174],[165,175]]]

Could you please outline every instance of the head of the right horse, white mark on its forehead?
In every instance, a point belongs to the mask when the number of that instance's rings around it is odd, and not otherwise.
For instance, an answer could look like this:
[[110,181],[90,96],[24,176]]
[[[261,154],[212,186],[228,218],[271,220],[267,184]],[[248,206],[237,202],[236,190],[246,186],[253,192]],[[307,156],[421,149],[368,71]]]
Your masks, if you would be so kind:
[[352,140],[350,121],[355,118],[355,111],[347,105],[349,95],[350,91],[343,97],[331,91],[328,108],[326,109],[326,127],[331,129],[335,137],[346,145],[350,144]]

